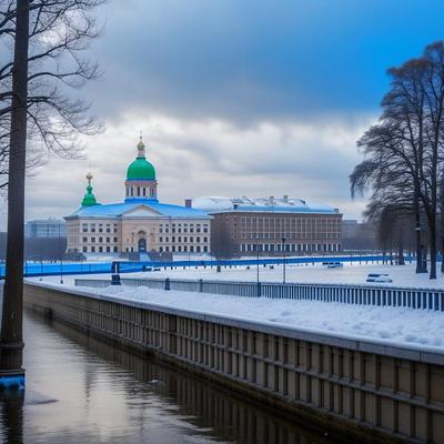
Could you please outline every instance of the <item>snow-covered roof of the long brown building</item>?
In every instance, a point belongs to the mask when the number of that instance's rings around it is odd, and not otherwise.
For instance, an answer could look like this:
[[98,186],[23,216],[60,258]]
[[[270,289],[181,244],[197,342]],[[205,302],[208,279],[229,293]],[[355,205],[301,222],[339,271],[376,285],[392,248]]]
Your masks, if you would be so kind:
[[322,203],[306,202],[297,198],[223,198],[223,196],[202,196],[193,199],[193,209],[205,211],[206,213],[226,213],[232,211],[255,211],[275,213],[334,213],[339,210]]

